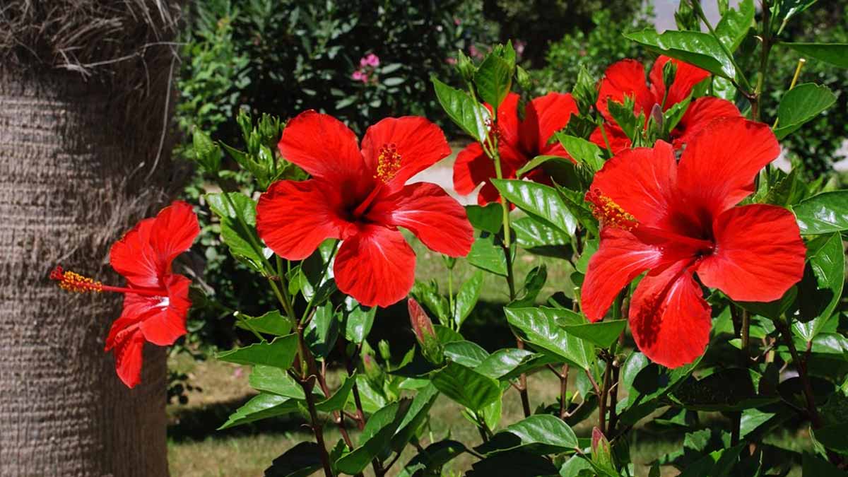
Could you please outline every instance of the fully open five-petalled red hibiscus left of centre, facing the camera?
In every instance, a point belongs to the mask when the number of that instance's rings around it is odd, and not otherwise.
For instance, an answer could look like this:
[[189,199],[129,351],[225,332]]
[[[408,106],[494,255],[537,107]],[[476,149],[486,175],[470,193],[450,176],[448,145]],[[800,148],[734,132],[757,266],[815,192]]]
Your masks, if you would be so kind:
[[471,250],[473,230],[455,199],[436,184],[404,185],[450,154],[432,122],[384,119],[365,132],[360,152],[341,121],[306,111],[288,121],[279,148],[311,178],[275,182],[262,194],[259,236],[288,260],[308,257],[325,239],[342,239],[333,274],[338,289],[361,304],[389,306],[412,288],[416,255],[398,227],[445,255]]

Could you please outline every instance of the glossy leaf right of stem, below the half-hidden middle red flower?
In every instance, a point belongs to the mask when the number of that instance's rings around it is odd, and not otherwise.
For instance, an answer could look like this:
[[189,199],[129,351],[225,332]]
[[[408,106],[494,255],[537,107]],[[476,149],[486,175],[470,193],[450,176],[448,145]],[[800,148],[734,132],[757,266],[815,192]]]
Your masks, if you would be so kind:
[[534,216],[550,227],[572,235],[577,227],[577,219],[568,210],[555,188],[519,180],[493,179],[494,187],[500,194],[530,216]]

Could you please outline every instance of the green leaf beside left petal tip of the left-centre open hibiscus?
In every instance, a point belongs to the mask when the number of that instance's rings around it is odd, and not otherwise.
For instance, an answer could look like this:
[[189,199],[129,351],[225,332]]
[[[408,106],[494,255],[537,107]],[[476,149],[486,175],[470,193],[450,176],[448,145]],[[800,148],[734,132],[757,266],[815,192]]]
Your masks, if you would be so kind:
[[[206,194],[204,199],[209,208],[215,212],[220,220],[220,235],[224,243],[230,248],[232,256],[242,261],[254,271],[262,271],[262,250],[256,250],[254,244],[262,244],[256,233],[256,203],[247,195],[231,192],[227,194],[232,200],[235,208],[226,200],[224,193]],[[238,220],[242,218],[243,222]],[[248,229],[242,226],[247,224]]]

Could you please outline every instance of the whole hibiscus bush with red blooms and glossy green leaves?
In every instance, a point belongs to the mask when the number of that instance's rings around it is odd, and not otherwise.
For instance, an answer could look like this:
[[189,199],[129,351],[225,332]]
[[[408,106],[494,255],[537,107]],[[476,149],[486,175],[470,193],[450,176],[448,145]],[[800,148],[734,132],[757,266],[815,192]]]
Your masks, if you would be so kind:
[[[374,121],[361,137],[311,109],[284,124],[245,116],[244,149],[196,131],[198,166],[220,186],[204,203],[232,256],[266,283],[255,300],[276,303],[259,316],[217,304],[255,338],[217,359],[251,366],[258,391],[221,428],[304,418],[312,438],[266,475],[454,474],[451,461],[470,456],[466,475],[630,476],[644,428],[685,433],[682,449],[648,463],[651,476],[844,474],[848,191],[772,164],[835,93],[799,81],[799,61],[777,114],[764,115],[773,49],[848,68],[845,43],[781,36],[813,3],[763,1],[758,13],[752,0],[718,2],[712,25],[683,1],[679,31],[625,34],[657,53],[650,65],[580,70],[570,93],[529,94],[510,42],[479,62],[460,55],[460,79],[432,76],[432,92],[474,141],[454,182],[478,205],[410,182],[451,154],[421,116]],[[754,70],[737,58],[750,41]],[[226,187],[225,155],[254,194]],[[110,254],[126,287],[52,274],[70,291],[125,295],[107,350],[130,387],[145,342],[172,344],[189,307],[209,300],[172,267],[198,230],[176,202],[126,233]],[[410,241],[444,256],[447,290],[416,281]],[[533,254],[572,267],[574,288],[541,296],[544,265],[516,276]],[[458,261],[478,272],[453,283]],[[514,345],[487,350],[464,334],[485,275],[509,297],[499,318]],[[415,345],[375,346],[377,308],[399,302]],[[527,384],[541,373],[559,384],[553,401]],[[504,418],[511,393],[516,421]],[[439,400],[455,401],[457,425],[479,440],[434,432]],[[787,433],[789,444],[775,439]]]

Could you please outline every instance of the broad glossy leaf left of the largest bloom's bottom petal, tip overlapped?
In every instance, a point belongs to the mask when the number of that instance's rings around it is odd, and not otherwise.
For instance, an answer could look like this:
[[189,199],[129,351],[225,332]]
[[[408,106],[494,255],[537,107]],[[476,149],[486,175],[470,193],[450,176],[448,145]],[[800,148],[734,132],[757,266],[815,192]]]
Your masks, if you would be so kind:
[[[574,324],[563,310],[539,306],[504,308],[506,319],[528,344],[546,351],[579,368],[589,369],[594,362],[594,346],[566,332],[557,321]],[[579,317],[582,321],[583,318]]]

